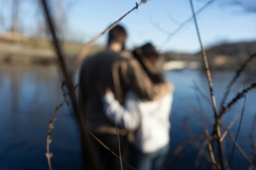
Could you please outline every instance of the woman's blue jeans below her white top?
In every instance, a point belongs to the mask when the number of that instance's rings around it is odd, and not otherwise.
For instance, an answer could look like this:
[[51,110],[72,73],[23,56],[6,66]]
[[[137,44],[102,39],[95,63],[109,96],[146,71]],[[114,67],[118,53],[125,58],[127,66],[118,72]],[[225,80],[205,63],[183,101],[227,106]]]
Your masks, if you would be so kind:
[[153,153],[142,153],[133,147],[131,151],[131,165],[137,170],[164,170],[169,153],[169,144]]

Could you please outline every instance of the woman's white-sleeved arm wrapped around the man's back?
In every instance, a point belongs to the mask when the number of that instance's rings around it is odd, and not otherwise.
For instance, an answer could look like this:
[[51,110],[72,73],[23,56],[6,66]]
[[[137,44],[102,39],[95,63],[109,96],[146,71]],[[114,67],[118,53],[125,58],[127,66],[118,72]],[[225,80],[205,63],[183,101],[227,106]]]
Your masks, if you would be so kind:
[[103,110],[108,119],[114,123],[114,117],[118,126],[130,131],[136,130],[140,124],[141,114],[137,101],[132,93],[127,94],[124,106],[120,105],[112,92],[107,92],[102,96]]

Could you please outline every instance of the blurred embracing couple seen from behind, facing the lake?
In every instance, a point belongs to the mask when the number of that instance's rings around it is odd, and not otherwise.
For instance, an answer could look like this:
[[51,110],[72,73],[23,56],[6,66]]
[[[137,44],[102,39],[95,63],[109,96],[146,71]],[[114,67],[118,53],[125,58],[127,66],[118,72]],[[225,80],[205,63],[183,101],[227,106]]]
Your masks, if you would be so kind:
[[[163,170],[169,152],[174,85],[156,69],[159,53],[151,43],[124,51],[121,25],[108,35],[107,48],[84,59],[80,99],[86,125],[106,146],[137,170]],[[102,169],[120,170],[120,161],[96,140]],[[123,169],[128,169],[123,163]]]

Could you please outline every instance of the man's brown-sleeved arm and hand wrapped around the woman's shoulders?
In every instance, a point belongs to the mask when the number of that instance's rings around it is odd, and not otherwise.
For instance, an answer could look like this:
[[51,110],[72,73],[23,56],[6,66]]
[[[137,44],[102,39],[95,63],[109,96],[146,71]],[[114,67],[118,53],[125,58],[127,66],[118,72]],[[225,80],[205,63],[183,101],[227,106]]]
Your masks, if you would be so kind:
[[174,91],[174,86],[168,81],[154,84],[136,59],[130,59],[126,64],[121,64],[121,77],[141,100],[159,100]]

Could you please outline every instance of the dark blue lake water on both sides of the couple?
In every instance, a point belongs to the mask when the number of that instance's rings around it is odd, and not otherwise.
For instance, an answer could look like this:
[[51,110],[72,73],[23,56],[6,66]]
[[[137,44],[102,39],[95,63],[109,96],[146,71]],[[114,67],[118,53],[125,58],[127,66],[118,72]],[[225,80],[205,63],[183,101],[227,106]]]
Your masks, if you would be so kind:
[[[215,71],[212,73],[214,92],[217,105],[223,96],[229,80],[234,75],[230,71]],[[174,101],[171,115],[171,151],[189,138],[185,131],[183,120],[189,117],[188,123],[194,135],[204,133],[202,120],[199,114],[195,92],[189,86],[193,85],[194,78],[201,90],[209,96],[208,83],[205,73],[199,70],[181,70],[166,73],[166,77],[175,84]],[[242,75],[246,86],[249,86],[255,77]],[[55,66],[1,66],[0,67],[0,164],[3,170],[48,169],[46,152],[46,135],[49,121],[56,106],[62,101],[60,89],[61,80],[59,70]],[[239,91],[243,90],[240,79],[232,88],[228,101]],[[247,94],[246,110],[241,126],[238,143],[250,156],[251,140],[249,133],[253,117],[256,113],[256,91]],[[211,129],[213,111],[211,106],[201,98],[206,118]],[[237,112],[241,112],[241,99],[225,115],[223,123],[228,126]],[[63,106],[55,122],[50,150],[54,170],[79,169],[81,167],[81,152],[77,123]],[[240,117],[238,118],[240,119]],[[238,121],[231,128],[235,135]],[[227,157],[230,157],[232,141],[224,141]],[[200,141],[202,143],[202,141]],[[185,157],[177,160],[170,156],[169,164],[172,169],[194,169],[198,149],[194,145],[186,147],[182,153]],[[199,169],[209,167],[209,163],[201,158]],[[231,169],[248,169],[249,164],[236,149]]]

